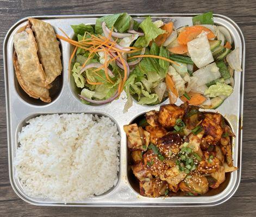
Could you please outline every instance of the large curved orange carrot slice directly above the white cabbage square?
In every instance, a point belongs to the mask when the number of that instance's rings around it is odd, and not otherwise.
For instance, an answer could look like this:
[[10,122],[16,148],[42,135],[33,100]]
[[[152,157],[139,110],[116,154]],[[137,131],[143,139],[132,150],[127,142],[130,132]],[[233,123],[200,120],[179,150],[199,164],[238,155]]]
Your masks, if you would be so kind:
[[187,44],[189,41],[196,39],[196,37],[202,33],[202,31],[208,32],[208,39],[214,39],[214,33],[201,25],[192,25],[192,27],[186,27],[184,31],[182,31],[178,36],[179,44]]

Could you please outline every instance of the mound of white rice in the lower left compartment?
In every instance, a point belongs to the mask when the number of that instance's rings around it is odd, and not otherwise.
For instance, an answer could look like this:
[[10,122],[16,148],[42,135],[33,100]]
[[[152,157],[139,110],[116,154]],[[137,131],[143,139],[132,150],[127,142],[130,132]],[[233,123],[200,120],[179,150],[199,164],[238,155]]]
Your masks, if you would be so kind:
[[117,183],[120,136],[107,117],[49,114],[18,134],[15,175],[28,196],[82,201]]

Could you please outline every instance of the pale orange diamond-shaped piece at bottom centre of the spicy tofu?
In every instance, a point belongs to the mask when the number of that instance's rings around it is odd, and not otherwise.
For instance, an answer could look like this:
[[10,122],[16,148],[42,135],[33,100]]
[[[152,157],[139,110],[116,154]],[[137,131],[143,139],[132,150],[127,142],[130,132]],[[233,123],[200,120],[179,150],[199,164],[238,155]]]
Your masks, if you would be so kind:
[[186,173],[184,171],[180,171],[178,166],[167,169],[165,173],[160,174],[160,179],[166,181],[168,184],[172,186],[176,186],[186,177]]

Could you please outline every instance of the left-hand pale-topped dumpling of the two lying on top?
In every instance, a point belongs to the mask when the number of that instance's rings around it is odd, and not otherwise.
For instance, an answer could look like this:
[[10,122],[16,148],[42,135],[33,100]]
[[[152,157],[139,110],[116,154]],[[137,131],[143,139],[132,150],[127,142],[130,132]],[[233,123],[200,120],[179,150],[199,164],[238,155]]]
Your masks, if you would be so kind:
[[33,31],[27,28],[14,35],[14,47],[22,78],[32,84],[45,87],[45,72],[38,59]]

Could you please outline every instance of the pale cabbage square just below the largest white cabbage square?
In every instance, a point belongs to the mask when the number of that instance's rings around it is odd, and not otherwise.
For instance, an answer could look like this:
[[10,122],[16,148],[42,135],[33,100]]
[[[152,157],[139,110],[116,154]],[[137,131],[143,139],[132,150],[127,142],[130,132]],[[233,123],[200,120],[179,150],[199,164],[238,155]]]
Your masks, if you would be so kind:
[[221,78],[221,73],[218,71],[216,63],[213,62],[203,68],[199,68],[193,73],[193,76],[198,78],[197,85],[202,86],[208,82]]

